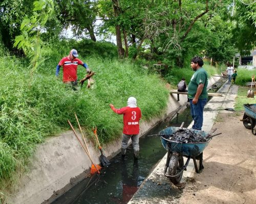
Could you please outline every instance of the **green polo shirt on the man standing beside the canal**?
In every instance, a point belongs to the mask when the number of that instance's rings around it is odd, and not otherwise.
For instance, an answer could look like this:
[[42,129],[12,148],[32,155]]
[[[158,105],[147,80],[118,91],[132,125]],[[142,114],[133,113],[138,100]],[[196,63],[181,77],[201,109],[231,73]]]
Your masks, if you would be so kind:
[[196,70],[190,79],[190,82],[187,88],[188,98],[192,99],[195,97],[197,93],[197,87],[199,84],[204,84],[204,88],[201,95],[199,96],[199,99],[207,98],[208,97],[208,93],[207,93],[208,75],[203,67]]

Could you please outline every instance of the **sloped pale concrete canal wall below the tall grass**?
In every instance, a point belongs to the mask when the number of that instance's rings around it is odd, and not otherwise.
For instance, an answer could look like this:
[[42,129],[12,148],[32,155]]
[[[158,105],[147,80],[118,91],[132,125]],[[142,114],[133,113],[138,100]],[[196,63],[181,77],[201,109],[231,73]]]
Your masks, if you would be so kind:
[[[208,86],[219,79],[219,77],[210,78]],[[186,102],[187,95],[180,95],[180,100],[177,101],[177,94],[171,94],[163,114],[151,121],[140,123],[140,136],[151,130],[169,114],[174,114]],[[93,161],[99,164],[100,152],[92,141],[88,140],[87,142]],[[117,140],[103,145],[102,148],[104,155],[109,159],[116,156],[121,148],[121,135]],[[28,171],[20,175],[20,181],[12,187],[6,203],[51,203],[89,176],[91,165],[90,159],[72,131],[48,138],[45,143],[37,146],[29,163]]]

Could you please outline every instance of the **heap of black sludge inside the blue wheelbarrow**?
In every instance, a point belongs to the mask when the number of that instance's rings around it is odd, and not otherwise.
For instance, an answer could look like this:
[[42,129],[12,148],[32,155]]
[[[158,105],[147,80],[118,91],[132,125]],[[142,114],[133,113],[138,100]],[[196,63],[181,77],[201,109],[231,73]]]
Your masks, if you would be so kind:
[[207,141],[207,139],[205,139],[205,137],[203,137],[201,134],[190,131],[189,129],[179,129],[172,135],[168,135],[168,137],[165,138],[181,143],[197,143]]

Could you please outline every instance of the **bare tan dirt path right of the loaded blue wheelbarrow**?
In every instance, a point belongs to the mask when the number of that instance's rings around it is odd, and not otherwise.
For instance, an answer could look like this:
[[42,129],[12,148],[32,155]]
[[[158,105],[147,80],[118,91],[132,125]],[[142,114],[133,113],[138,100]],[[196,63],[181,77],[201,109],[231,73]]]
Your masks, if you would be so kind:
[[204,150],[204,170],[195,173],[179,203],[256,203],[256,136],[240,113],[220,113],[216,133]]

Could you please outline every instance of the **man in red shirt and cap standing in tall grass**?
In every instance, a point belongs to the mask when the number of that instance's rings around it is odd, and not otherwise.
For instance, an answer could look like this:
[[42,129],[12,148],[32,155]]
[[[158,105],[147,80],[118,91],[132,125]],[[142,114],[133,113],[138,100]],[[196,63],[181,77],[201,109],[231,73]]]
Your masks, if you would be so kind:
[[63,66],[63,83],[70,84],[76,90],[77,86],[77,66],[82,65],[86,68],[87,72],[90,71],[88,65],[79,60],[76,49],[71,49],[69,56],[60,60],[56,67],[56,77],[59,75],[59,69]]

